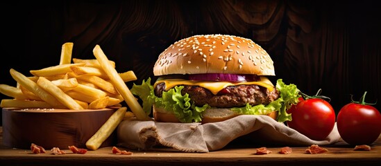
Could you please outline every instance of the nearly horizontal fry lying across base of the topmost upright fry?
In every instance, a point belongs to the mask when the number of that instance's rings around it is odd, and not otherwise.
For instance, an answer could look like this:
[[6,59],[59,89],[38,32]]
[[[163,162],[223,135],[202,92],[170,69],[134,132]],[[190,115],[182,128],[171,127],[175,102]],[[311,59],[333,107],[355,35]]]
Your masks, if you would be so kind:
[[40,70],[32,70],[31,74],[41,77],[49,77],[53,75],[65,75],[71,72],[70,66],[85,66],[85,64],[60,64],[57,66],[50,66],[47,68],[42,68]]

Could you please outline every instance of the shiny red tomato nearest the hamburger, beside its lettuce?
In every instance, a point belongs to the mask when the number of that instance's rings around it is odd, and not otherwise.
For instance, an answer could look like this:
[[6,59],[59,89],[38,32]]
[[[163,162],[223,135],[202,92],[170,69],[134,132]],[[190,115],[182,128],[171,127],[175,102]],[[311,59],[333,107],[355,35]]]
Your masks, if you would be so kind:
[[312,140],[324,140],[335,127],[335,110],[322,98],[299,99],[298,104],[287,111],[291,121],[287,125]]

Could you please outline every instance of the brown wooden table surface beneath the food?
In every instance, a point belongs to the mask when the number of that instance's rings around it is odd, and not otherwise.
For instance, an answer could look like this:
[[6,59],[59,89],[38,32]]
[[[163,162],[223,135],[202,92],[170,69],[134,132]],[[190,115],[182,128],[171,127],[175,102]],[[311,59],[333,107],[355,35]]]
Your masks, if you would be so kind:
[[[1,142],[2,142],[2,128]],[[291,147],[291,154],[278,154],[280,147],[268,147],[271,154],[255,155],[257,147],[227,146],[209,153],[184,153],[173,149],[133,151],[133,155],[112,154],[112,147],[103,147],[86,154],[33,154],[31,149],[14,149],[0,145],[0,165],[381,165],[381,136],[371,151],[354,151],[344,142],[324,146],[325,154],[305,154],[307,147]],[[124,149],[124,148],[119,148]],[[128,149],[126,149],[128,150]]]

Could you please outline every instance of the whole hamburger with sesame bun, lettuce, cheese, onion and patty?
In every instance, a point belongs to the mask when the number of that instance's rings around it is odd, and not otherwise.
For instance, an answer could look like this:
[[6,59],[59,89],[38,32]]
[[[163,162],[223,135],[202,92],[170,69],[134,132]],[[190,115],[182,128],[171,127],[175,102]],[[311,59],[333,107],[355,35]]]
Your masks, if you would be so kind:
[[181,39],[159,55],[153,74],[153,84],[149,77],[131,92],[158,122],[221,122],[239,115],[285,122],[300,97],[294,84],[269,80],[275,70],[266,50],[233,35]]

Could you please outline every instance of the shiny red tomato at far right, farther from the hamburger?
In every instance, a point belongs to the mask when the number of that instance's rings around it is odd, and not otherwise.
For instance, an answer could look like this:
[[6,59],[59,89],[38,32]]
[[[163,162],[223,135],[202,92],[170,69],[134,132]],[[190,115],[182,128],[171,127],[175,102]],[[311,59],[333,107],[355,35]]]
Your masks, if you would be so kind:
[[350,145],[371,145],[381,133],[381,113],[364,100],[346,104],[337,114],[337,130]]

